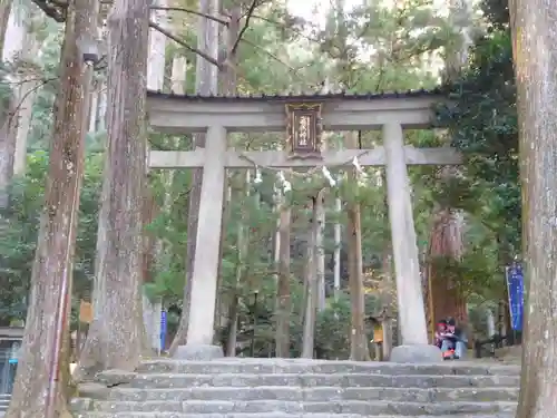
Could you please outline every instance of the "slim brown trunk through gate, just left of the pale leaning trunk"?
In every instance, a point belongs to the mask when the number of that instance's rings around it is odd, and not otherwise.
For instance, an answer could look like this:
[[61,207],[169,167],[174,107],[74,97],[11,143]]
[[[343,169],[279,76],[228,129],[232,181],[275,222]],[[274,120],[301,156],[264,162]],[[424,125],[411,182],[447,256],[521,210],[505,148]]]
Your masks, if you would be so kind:
[[290,290],[290,230],[291,207],[283,196],[278,206],[278,263],[276,282],[276,330],[275,346],[276,357],[290,357],[290,315],[291,315],[291,290]]

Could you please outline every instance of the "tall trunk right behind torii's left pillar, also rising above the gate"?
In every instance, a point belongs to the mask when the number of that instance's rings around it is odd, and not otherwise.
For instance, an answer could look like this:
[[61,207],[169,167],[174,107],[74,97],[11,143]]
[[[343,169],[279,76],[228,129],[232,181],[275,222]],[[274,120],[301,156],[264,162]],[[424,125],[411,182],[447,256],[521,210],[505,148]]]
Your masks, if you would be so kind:
[[[216,16],[219,10],[219,0],[199,0],[199,12]],[[197,33],[197,48],[206,51],[211,57],[218,55],[218,23],[199,17]],[[195,69],[195,90],[199,95],[217,94],[218,68],[197,57]],[[194,136],[194,147],[205,147],[205,134]],[[202,193],[203,168],[193,169],[192,188],[189,191],[189,207],[187,212],[187,253],[186,253],[186,283],[184,286],[184,304],[176,337],[170,346],[173,353],[178,346],[186,343],[189,305],[192,295],[192,274],[194,272],[195,245],[197,240],[197,221],[199,216],[199,200]]]

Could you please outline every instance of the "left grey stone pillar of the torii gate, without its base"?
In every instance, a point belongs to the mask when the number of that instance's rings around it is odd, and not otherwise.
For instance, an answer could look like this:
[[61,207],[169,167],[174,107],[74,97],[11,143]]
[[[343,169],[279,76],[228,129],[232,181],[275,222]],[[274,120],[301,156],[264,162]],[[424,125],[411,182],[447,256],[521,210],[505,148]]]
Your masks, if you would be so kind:
[[205,164],[197,224],[197,245],[192,275],[192,308],[187,330],[187,344],[213,343],[221,225],[224,208],[226,168],[226,129],[212,126],[207,130]]

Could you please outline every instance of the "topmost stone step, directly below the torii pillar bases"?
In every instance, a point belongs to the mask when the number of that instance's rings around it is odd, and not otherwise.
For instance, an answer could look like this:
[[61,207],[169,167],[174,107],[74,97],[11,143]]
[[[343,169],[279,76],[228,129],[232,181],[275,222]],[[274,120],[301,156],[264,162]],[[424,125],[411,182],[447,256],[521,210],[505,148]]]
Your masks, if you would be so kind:
[[143,373],[377,373],[377,375],[458,375],[517,376],[518,366],[446,361],[436,364],[401,364],[390,362],[331,361],[307,359],[222,359],[214,361],[178,361],[158,359],[143,362]]

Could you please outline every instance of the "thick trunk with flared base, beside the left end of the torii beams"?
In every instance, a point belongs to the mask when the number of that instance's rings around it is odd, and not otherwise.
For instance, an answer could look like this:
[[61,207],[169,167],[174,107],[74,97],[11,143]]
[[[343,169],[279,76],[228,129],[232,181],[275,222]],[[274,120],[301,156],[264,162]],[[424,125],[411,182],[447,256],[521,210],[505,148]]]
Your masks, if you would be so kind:
[[134,370],[147,352],[140,285],[148,19],[146,1],[115,0],[107,20],[107,152],[94,321],[80,377],[99,369]]

